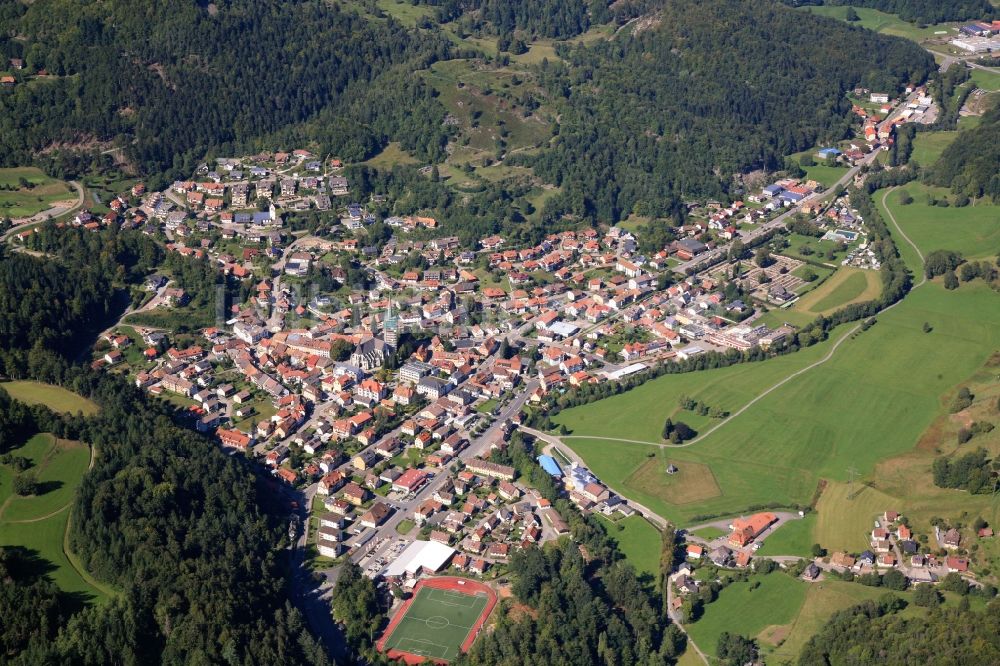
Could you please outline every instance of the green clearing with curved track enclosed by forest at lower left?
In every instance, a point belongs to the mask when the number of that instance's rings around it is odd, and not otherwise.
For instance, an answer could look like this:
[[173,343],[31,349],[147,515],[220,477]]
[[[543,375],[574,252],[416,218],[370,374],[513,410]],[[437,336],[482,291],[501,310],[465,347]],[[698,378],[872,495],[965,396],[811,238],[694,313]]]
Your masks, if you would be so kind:
[[32,497],[12,495],[13,474],[0,466],[0,543],[22,546],[47,560],[48,575],[80,602],[99,600],[109,591],[82,571],[65,543],[69,506],[87,471],[89,449],[79,442],[35,435],[11,451],[32,461],[42,492]]

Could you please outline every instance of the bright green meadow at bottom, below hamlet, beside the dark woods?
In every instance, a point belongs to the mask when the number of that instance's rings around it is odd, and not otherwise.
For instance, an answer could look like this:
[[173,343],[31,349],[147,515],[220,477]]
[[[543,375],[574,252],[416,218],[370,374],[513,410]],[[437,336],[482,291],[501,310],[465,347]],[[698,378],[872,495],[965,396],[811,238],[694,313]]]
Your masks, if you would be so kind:
[[769,627],[791,624],[802,609],[807,588],[807,583],[781,572],[754,576],[722,590],[705,606],[701,619],[685,628],[703,652],[714,655],[724,631],[756,637]]

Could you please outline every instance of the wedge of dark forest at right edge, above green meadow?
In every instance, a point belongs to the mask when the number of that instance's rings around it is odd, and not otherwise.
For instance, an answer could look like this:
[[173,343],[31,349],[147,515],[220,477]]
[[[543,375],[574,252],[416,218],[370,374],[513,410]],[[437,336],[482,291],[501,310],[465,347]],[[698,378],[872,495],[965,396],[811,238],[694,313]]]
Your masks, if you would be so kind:
[[983,114],[976,127],[959,133],[931,168],[930,180],[956,194],[1000,203],[1000,106]]

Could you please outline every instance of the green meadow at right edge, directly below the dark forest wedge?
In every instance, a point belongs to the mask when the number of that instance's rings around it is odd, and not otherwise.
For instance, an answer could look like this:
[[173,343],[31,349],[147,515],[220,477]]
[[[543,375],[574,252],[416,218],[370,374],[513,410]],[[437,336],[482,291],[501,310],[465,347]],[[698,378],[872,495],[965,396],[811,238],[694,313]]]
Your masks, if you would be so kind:
[[[875,201],[882,207],[883,190],[875,193]],[[908,206],[900,204],[903,193],[913,197]],[[964,208],[941,208],[927,205],[927,196],[951,198],[944,188],[910,183],[891,193],[886,203],[907,236],[924,254],[933,250],[954,250],[967,258],[994,257],[1000,252],[1000,206],[979,202]],[[900,247],[903,258],[918,268],[912,249]]]

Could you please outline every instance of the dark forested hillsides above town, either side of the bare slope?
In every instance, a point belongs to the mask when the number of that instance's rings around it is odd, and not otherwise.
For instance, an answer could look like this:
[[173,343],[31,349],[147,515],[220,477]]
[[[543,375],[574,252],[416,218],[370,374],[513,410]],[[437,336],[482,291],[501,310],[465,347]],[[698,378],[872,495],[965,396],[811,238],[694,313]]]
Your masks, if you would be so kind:
[[[734,173],[843,138],[845,89],[897,90],[933,68],[915,44],[766,0],[427,2],[439,22],[500,35],[501,48],[643,13],[634,36],[557,44],[560,58],[538,65],[558,137],[510,160],[562,186],[547,219],[668,214],[684,197],[721,196]],[[207,153],[257,147],[358,160],[394,139],[421,160],[446,157],[447,111],[412,73],[472,52],[433,23],[404,29],[304,1],[136,6],[5,0],[0,51],[54,76],[0,95],[0,159],[95,139],[117,139],[140,170],[168,177]]]

